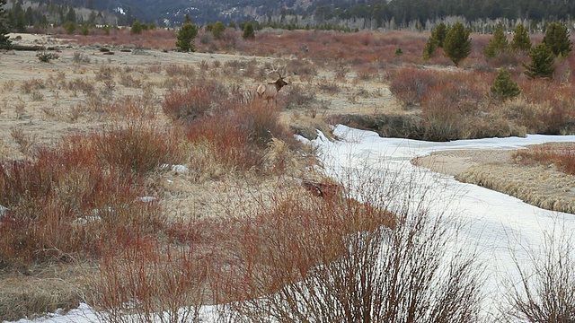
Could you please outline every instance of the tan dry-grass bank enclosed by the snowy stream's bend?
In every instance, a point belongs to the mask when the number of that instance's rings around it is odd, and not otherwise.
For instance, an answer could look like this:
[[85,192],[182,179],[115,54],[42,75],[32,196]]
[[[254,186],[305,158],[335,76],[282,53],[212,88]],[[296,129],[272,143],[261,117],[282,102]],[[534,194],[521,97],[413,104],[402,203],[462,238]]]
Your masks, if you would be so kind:
[[464,183],[515,196],[547,210],[575,214],[575,177],[554,165],[516,162],[514,151],[448,151],[431,153],[413,164],[452,175]]

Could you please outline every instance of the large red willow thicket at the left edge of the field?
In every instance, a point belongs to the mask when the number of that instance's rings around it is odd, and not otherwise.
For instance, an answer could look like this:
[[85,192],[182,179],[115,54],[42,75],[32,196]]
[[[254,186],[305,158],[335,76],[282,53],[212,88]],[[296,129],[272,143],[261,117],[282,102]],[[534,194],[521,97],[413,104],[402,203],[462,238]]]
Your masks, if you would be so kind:
[[98,256],[129,243],[135,231],[164,227],[158,205],[141,202],[146,174],[180,161],[175,137],[134,123],[65,138],[31,162],[0,163],[5,265]]

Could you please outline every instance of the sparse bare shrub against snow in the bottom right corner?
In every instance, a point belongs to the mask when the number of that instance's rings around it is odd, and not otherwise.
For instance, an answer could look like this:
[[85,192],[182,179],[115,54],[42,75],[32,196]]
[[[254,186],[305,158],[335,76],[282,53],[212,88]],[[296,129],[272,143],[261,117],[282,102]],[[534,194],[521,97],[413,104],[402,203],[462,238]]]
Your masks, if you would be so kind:
[[512,256],[518,281],[509,277],[508,307],[501,308],[506,322],[571,322],[575,318],[575,240],[556,220],[544,231],[540,246],[526,246],[526,258]]

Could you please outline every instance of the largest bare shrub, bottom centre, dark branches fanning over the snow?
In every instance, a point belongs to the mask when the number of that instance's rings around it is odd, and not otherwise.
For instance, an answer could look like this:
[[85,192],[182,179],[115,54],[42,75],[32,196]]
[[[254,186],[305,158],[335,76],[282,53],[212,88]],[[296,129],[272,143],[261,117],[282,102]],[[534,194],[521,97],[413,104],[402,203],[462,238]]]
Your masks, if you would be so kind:
[[390,194],[398,194],[391,183],[372,180],[359,188],[369,191],[366,204],[346,193],[311,201],[286,193],[244,224],[246,269],[242,284],[234,285],[243,301],[233,303],[230,316],[247,322],[478,321],[481,275],[473,254],[453,249],[457,225],[430,214],[425,203],[391,207]]

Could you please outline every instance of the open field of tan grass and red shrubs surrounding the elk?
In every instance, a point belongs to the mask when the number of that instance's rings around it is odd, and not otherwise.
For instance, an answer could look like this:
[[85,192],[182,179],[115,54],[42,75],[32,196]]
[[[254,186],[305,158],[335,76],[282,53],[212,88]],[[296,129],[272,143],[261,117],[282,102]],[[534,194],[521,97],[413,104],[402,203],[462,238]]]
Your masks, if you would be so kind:
[[[456,68],[441,55],[423,61],[429,35],[420,33],[200,34],[199,52],[180,53],[173,33],[148,32],[13,35],[57,58],[0,54],[0,188],[8,196],[0,204],[10,209],[0,222],[0,319],[79,301],[117,310],[131,297],[164,310],[163,295],[175,308],[254,297],[337,258],[341,236],[394,227],[385,210],[343,198],[294,134],[313,138],[335,122],[429,140],[575,130],[572,54],[548,82],[526,79],[525,56],[486,60],[479,35]],[[511,66],[521,97],[487,95],[501,65]],[[277,106],[254,101],[278,67],[289,85]],[[426,165],[462,179],[500,170],[501,181],[541,170],[553,174],[517,185],[549,193],[554,183],[563,194],[552,196],[573,198],[572,176],[509,161],[457,153]],[[557,178],[567,181],[557,187]],[[287,257],[294,249],[304,254]],[[274,253],[284,258],[267,258]],[[187,272],[174,269],[182,264]]]

